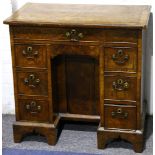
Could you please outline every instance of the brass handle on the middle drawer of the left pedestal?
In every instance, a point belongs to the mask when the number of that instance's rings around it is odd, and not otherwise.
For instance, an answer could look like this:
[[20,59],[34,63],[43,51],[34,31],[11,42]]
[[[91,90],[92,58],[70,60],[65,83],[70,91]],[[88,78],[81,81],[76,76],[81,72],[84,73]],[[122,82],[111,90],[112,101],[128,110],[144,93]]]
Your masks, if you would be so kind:
[[40,79],[36,78],[35,74],[30,74],[24,79],[24,84],[31,88],[35,88],[39,83]]

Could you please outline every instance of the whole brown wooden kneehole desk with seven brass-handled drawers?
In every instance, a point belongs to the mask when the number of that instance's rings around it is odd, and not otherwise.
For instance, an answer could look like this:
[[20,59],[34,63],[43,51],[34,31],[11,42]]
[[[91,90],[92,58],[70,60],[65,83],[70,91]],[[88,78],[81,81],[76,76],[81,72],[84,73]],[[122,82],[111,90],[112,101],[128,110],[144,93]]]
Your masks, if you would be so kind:
[[9,24],[14,141],[57,141],[61,119],[99,122],[98,148],[126,139],[143,150],[143,71],[150,6],[27,3]]

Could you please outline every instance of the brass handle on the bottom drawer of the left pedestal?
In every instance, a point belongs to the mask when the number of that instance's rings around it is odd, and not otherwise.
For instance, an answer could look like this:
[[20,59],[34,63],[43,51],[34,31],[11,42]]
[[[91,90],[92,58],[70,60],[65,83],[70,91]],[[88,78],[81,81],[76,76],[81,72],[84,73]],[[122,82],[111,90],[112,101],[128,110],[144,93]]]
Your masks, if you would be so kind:
[[30,113],[38,113],[41,111],[41,106],[38,105],[35,101],[32,101],[29,104],[26,104],[25,108]]

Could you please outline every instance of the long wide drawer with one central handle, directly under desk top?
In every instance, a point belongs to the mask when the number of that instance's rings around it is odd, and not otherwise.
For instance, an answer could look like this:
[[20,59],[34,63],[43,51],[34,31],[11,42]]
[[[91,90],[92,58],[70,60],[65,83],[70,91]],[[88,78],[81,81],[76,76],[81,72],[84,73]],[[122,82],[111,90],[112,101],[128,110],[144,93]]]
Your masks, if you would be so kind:
[[13,27],[15,39],[36,39],[51,41],[105,41],[137,43],[137,31],[118,29],[105,30],[97,28],[39,28]]

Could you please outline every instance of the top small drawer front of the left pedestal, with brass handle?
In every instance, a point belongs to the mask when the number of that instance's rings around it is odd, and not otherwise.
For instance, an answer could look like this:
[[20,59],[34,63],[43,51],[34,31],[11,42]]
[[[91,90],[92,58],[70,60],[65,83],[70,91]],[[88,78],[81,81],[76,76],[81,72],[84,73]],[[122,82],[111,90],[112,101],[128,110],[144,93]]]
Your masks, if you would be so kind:
[[15,45],[16,66],[46,67],[46,46],[19,44]]

